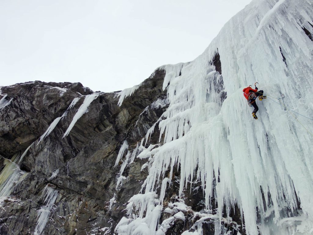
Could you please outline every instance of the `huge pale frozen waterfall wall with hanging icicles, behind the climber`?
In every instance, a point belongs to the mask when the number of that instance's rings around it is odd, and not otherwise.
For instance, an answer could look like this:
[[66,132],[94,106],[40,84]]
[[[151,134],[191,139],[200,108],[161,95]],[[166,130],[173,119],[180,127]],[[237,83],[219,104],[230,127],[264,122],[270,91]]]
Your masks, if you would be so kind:
[[[201,180],[208,208],[215,190],[220,221],[223,206],[237,204],[249,235],[313,232],[313,43],[304,30],[313,33],[312,19],[309,0],[254,0],[194,61],[164,67],[170,105],[155,127],[162,145],[137,156],[149,159],[149,175],[130,200],[137,214],[121,220],[118,234],[164,234],[151,223],[161,213],[154,192],[175,164],[180,194]],[[222,75],[211,63],[216,53]],[[257,101],[258,120],[242,92],[256,81],[271,98]]]

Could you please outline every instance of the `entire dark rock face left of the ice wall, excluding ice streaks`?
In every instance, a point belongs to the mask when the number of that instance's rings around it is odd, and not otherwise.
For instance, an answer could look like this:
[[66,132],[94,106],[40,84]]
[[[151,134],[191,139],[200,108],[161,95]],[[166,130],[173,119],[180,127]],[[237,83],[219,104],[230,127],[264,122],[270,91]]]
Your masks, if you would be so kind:
[[[0,99],[13,100],[0,109],[1,165],[14,154],[22,154],[20,168],[23,180],[18,180],[9,199],[0,208],[0,234],[32,234],[38,220],[38,210],[44,206],[46,185],[58,191],[43,234],[111,234],[124,216],[125,203],[137,194],[147,172],[141,172],[143,162],[135,159],[126,168],[127,182],[116,191],[114,168],[116,156],[126,139],[130,149],[145,136],[146,131],[162,115],[166,107],[149,107],[166,97],[161,87],[164,70],[144,81],[121,107],[116,93],[102,93],[91,102],[75,123],[69,135],[62,138],[75,113],[84,102],[82,95],[92,93],[80,83],[45,83],[1,87]],[[79,101],[53,131],[40,143],[38,139],[49,125],[68,109],[74,98]],[[142,113],[142,114],[141,114]],[[141,115],[140,115],[141,114]],[[136,126],[135,126],[136,125]],[[157,137],[156,137],[157,136]],[[158,138],[154,133],[151,141]],[[58,170],[56,177],[52,173]],[[50,179],[49,179],[50,178]],[[110,199],[114,193],[115,202]]]

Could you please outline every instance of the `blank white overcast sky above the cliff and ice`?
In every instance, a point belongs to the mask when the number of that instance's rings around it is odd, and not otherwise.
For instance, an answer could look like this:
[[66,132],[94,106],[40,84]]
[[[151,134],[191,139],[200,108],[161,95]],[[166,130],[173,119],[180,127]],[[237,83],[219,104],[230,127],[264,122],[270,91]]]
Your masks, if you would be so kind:
[[0,86],[139,84],[161,65],[194,60],[251,0],[1,0]]

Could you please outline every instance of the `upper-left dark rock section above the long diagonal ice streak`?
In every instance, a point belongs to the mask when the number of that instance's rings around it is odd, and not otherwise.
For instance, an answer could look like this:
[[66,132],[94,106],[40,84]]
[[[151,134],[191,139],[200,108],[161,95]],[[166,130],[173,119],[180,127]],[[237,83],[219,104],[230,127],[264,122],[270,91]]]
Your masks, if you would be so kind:
[[1,110],[0,154],[6,158],[33,143],[49,123],[62,115],[73,98],[92,93],[80,83],[40,81],[1,90],[8,95],[7,100],[13,98],[12,104]]

